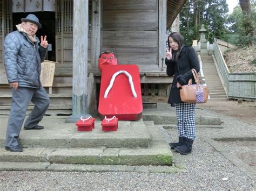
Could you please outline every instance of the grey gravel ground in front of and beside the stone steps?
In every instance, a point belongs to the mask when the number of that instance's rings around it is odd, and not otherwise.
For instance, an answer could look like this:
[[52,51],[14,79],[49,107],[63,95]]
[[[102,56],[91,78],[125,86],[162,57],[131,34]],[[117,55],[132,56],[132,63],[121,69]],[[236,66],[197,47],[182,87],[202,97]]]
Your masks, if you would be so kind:
[[[213,112],[213,115],[217,115]],[[184,173],[138,172],[0,172],[1,190],[254,190],[255,182],[245,172],[226,159],[210,144],[211,137],[252,137],[255,126],[227,116],[221,116],[224,129],[198,128],[193,152],[181,155]],[[177,129],[166,130],[170,139],[177,140]],[[242,135],[242,136],[241,136]],[[246,149],[238,142],[219,142],[228,151],[241,155]],[[248,143],[247,143],[248,144]],[[255,142],[250,142],[254,152]],[[251,151],[252,150],[252,151]],[[173,151],[173,153],[176,151]],[[254,152],[255,153],[255,152]],[[177,153],[174,153],[177,154]],[[245,154],[246,155],[246,154]],[[255,157],[255,154],[254,154]],[[254,158],[255,159],[255,158]]]

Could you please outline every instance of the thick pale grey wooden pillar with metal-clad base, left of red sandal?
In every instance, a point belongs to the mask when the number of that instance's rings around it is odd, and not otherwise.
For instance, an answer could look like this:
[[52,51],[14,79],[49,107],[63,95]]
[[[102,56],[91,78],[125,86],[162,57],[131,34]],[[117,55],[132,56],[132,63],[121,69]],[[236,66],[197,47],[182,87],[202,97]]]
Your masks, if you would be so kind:
[[87,108],[88,0],[73,1],[72,115],[66,123],[89,116]]

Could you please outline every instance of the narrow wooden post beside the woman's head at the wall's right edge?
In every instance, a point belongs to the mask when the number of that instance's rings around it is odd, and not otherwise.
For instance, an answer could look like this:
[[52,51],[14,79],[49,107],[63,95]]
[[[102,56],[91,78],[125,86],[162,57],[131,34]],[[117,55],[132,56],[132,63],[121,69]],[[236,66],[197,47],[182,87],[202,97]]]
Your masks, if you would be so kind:
[[158,44],[158,67],[165,67],[164,59],[166,53],[166,0],[159,0],[159,13],[158,13],[158,23],[159,23],[159,44]]

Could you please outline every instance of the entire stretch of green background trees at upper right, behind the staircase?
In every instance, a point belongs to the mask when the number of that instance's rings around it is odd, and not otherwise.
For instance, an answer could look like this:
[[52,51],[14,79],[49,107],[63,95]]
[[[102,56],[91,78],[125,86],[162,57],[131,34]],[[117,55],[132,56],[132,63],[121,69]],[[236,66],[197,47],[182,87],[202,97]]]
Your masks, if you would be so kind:
[[[195,26],[194,6],[199,11],[198,26]],[[180,33],[185,38],[185,44],[191,45],[193,40],[199,40],[201,24],[205,25],[206,39],[213,43],[214,38],[228,43],[248,46],[255,44],[256,1],[251,1],[251,15],[242,15],[241,7],[234,8],[227,15],[226,0],[188,0],[180,12]]]

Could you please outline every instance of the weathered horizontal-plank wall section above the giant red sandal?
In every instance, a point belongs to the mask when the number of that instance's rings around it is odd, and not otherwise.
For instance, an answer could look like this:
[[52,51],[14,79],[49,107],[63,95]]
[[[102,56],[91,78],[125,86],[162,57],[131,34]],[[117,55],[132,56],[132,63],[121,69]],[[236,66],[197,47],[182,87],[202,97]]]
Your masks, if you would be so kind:
[[119,64],[158,67],[158,1],[102,1],[102,51]]

